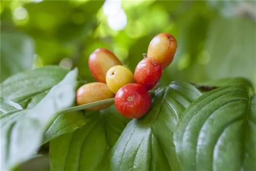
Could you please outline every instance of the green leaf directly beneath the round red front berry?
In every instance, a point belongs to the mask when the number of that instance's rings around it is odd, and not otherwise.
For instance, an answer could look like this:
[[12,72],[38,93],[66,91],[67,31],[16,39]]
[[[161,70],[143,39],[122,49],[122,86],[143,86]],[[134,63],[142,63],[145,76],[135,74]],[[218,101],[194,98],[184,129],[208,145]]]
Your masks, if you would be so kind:
[[199,96],[183,82],[158,89],[150,112],[132,120],[113,147],[110,170],[179,170],[173,133],[182,112]]

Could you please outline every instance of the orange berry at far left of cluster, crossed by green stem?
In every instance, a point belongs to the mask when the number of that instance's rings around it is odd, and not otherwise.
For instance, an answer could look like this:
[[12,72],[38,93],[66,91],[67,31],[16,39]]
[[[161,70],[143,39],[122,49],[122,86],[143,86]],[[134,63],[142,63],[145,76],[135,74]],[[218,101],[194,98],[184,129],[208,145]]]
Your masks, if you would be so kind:
[[[84,84],[76,92],[76,102],[78,105],[87,104],[99,100],[113,98],[115,95],[110,91],[106,83],[92,82]],[[86,109],[91,111],[98,111],[108,108],[112,103],[94,106]]]

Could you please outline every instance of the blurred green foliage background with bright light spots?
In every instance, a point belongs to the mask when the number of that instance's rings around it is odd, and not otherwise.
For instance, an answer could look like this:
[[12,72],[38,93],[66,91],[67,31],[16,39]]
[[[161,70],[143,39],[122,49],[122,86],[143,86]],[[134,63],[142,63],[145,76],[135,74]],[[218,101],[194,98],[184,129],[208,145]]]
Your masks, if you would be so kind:
[[[0,81],[46,65],[78,67],[95,81],[88,57],[96,48],[110,49],[134,71],[151,39],[167,32],[178,51],[162,85],[234,76],[256,85],[256,1],[2,0],[0,13]],[[33,163],[30,170],[39,170]]]

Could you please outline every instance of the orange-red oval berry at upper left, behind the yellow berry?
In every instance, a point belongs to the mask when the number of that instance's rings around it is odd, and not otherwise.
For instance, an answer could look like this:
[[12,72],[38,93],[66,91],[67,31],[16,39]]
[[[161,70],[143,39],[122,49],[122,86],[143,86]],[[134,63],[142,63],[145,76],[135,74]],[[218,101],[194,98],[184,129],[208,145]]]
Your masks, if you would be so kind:
[[118,58],[108,49],[96,49],[89,57],[89,68],[94,78],[106,82],[106,72],[113,66],[122,65]]

